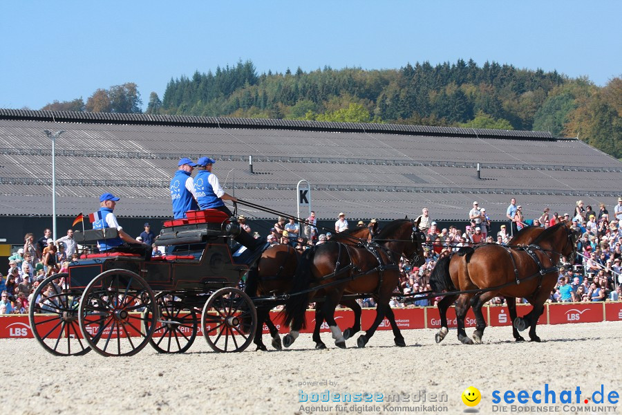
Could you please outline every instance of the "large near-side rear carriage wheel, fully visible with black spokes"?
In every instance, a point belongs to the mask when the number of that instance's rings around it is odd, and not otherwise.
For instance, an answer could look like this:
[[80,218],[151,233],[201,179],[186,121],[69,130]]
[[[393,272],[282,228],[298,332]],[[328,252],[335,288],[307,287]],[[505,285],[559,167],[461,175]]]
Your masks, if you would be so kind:
[[[80,331],[102,356],[131,356],[147,345],[156,328],[155,307],[156,299],[144,279],[128,270],[108,270],[84,288]],[[142,313],[151,314],[144,329]]]

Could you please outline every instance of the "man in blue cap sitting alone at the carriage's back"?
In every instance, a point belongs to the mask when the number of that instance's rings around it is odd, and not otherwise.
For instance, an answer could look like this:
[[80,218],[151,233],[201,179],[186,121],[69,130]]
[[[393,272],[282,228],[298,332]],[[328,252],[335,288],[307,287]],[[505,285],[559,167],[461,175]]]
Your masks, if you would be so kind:
[[117,222],[117,217],[113,213],[115,205],[119,201],[112,193],[104,193],[100,196],[100,210],[95,212],[93,229],[117,228],[119,236],[110,239],[100,239],[97,241],[97,248],[101,252],[126,252],[130,254],[144,255],[145,259],[151,257],[151,246],[140,243],[133,237],[126,234]]

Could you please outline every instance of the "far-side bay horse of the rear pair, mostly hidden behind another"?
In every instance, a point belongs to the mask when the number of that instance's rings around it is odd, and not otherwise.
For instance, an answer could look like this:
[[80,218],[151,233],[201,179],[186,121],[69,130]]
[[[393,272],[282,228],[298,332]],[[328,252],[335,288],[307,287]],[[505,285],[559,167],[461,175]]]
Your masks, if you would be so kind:
[[[340,232],[332,237],[331,241],[346,243],[355,246],[361,241],[370,239],[370,228],[354,228]],[[292,290],[292,282],[294,271],[298,266],[300,252],[294,250],[290,245],[276,245],[268,248],[263,252],[258,261],[257,267],[249,272],[245,293],[250,297],[282,295]],[[321,293],[319,293],[321,295]],[[341,305],[351,308],[355,314],[355,324],[346,330],[348,337],[361,330],[361,306],[355,299],[342,299]],[[272,336],[272,347],[281,349],[281,337],[279,330],[276,329],[272,320],[270,320],[270,309],[272,304],[267,305],[256,304],[257,306],[257,329],[254,336],[254,343],[257,350],[266,350],[263,344],[263,322],[267,325]],[[313,340],[317,349],[326,349],[326,345],[321,341],[320,329],[323,317],[320,314],[320,308],[316,309],[315,329],[313,331]],[[395,321],[391,322],[395,324]]]

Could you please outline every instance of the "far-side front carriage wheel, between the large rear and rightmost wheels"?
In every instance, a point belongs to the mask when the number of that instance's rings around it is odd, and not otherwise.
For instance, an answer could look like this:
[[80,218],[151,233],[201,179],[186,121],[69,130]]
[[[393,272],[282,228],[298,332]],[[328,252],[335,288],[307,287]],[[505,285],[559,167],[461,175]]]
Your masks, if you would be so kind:
[[[184,353],[187,351],[198,331],[198,322],[194,308],[187,307],[183,299],[168,298],[169,295],[158,295],[158,318],[156,329],[149,339],[149,344],[159,353]],[[151,321],[151,313],[144,314],[145,325]]]

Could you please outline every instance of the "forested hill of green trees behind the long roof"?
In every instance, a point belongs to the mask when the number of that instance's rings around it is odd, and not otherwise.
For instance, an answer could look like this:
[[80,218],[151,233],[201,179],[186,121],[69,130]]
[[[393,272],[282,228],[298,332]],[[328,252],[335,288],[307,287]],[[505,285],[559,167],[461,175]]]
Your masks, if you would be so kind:
[[[141,112],[136,84],[98,89],[86,100],[44,109]],[[259,75],[251,61],[171,79],[147,113],[344,122],[390,122],[550,131],[622,158],[622,79],[603,87],[585,77],[458,59],[399,69],[328,66]]]

